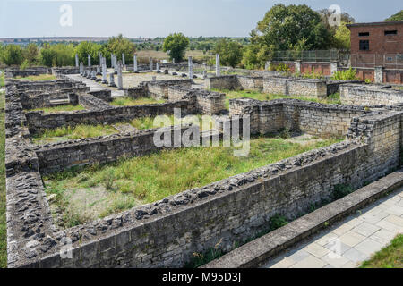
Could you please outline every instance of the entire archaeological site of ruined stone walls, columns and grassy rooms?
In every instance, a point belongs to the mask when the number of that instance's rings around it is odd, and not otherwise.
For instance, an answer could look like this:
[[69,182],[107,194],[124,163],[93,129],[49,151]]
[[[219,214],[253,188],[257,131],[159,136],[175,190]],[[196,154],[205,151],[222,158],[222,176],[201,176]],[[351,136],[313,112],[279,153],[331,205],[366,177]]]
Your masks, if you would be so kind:
[[[193,63],[191,57],[188,63],[150,58],[150,64],[140,64],[134,55],[129,65],[124,57],[118,61],[113,55],[107,63],[99,56],[99,65],[89,56],[88,63],[77,57],[73,67],[5,71],[9,267],[184,267],[195,254],[218,245],[225,255],[203,267],[260,266],[402,185],[396,172],[402,160],[403,90],[383,83],[382,69],[374,71],[378,84],[365,84],[230,69],[219,65],[219,55],[216,66]],[[327,68],[330,74],[339,67]],[[56,80],[24,80],[40,74]],[[228,97],[234,90],[244,96]],[[282,97],[248,97],[255,93]],[[335,93],[339,104],[324,103]],[[181,118],[210,118],[211,124],[177,125],[177,110]],[[156,128],[150,122],[158,115],[174,122]],[[97,135],[80,133],[82,126]],[[246,127],[250,134],[243,132]],[[231,169],[219,181],[210,170],[203,175],[213,178],[207,183],[176,185],[180,175],[168,176],[165,184],[177,188],[162,195],[150,184],[160,180],[158,173],[148,171],[149,181],[136,177],[141,160],[163,164],[164,156],[192,151],[198,152],[196,161],[209,150],[157,146],[156,134],[164,142],[178,135],[222,143],[233,130],[240,130],[241,141],[250,136],[248,162],[262,164]],[[304,148],[266,160],[253,147],[264,148],[267,138],[276,138],[280,147],[297,140]],[[228,148],[231,152],[222,154],[235,160],[236,147]],[[122,173],[115,173],[119,179],[109,180],[108,170],[124,164]],[[94,182],[96,172],[102,172],[105,185]],[[355,191],[336,199],[338,186]],[[279,215],[289,223],[274,229],[270,223]],[[269,250],[241,255],[259,237]]]

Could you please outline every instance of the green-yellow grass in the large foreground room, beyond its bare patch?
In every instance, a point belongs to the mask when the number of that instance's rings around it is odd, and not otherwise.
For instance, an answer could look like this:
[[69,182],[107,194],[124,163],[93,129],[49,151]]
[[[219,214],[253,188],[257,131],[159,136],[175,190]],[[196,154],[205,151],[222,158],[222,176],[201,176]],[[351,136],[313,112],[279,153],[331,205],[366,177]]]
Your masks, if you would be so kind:
[[[146,204],[337,141],[326,139],[303,146],[284,139],[256,138],[251,140],[251,152],[245,157],[233,156],[232,147],[162,150],[149,156],[121,159],[114,164],[59,172],[44,180],[47,194],[63,197],[66,189],[104,186],[110,192],[129,194],[141,204]],[[115,207],[107,214],[120,212],[126,206],[120,204]]]

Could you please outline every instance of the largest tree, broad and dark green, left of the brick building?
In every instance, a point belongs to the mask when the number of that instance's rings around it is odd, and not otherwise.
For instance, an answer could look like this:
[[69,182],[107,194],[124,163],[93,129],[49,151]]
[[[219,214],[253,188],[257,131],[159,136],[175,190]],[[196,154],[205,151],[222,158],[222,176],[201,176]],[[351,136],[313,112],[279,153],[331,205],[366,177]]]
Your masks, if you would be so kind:
[[[323,24],[320,13],[307,5],[276,4],[251,32],[251,45],[258,51],[255,61],[259,66],[263,66],[275,50],[293,49],[295,46],[324,49],[330,47],[330,39],[330,31]],[[246,53],[245,56],[252,55]],[[253,61],[244,59],[244,63]]]

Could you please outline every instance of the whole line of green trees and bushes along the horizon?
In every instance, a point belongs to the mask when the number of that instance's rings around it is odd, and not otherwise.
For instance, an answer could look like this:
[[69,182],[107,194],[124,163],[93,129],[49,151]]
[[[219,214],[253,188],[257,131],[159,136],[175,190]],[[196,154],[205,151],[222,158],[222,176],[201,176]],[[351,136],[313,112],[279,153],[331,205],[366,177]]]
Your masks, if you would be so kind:
[[[347,24],[355,23],[348,13],[341,13],[339,26],[330,25],[333,17],[327,10],[313,11],[305,4],[275,4],[259,21],[249,38],[187,38],[182,33],[174,33],[167,38],[154,38],[152,41],[134,44],[122,35],[112,37],[105,43],[81,42],[80,44],[60,43],[39,46],[30,43],[21,47],[16,45],[0,46],[0,61],[7,65],[26,67],[35,64],[46,66],[66,66],[75,64],[75,54],[80,62],[99,63],[99,53],[110,63],[110,54],[125,62],[133,63],[136,50],[162,50],[176,62],[184,60],[186,50],[201,50],[203,61],[214,64],[214,54],[220,55],[223,65],[259,69],[273,58],[276,51],[327,50],[350,48],[350,31]],[[385,21],[403,21],[403,11],[392,15]],[[209,54],[209,55],[208,55]]]

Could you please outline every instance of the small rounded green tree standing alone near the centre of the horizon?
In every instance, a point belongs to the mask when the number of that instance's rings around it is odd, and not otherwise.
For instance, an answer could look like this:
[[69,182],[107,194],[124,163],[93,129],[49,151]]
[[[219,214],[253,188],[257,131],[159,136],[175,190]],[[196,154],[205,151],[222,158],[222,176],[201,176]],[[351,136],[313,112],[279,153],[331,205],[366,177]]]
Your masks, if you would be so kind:
[[224,65],[236,67],[241,63],[243,55],[243,46],[234,41],[225,38],[220,39],[214,48],[214,53],[220,55],[220,62]]

